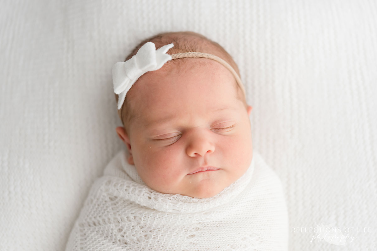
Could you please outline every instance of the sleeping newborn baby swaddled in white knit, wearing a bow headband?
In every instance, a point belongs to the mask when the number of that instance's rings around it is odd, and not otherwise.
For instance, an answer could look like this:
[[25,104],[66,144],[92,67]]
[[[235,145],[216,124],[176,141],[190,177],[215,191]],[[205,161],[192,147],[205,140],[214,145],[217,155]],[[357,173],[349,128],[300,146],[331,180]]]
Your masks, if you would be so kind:
[[113,81],[127,151],[93,184],[66,250],[288,249],[280,180],[253,153],[252,107],[219,44],[159,34]]

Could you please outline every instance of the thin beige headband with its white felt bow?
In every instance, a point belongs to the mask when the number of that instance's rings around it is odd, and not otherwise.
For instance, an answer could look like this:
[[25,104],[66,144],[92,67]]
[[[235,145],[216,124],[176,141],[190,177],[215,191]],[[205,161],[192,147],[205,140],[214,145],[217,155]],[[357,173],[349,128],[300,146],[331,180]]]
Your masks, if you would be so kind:
[[201,52],[185,52],[172,55],[166,54],[166,52],[173,46],[174,44],[168,44],[156,50],[154,43],[147,42],[140,47],[138,52],[129,60],[126,62],[118,62],[113,66],[113,84],[114,92],[118,94],[118,110],[121,109],[127,92],[139,77],[148,71],[158,70],[169,60],[182,57],[204,57],[215,60],[224,65],[229,71],[231,71],[231,73],[233,73],[239,87],[245,95],[245,89],[244,85],[242,85],[241,79],[236,71],[234,71],[233,67],[227,62],[215,55]]

